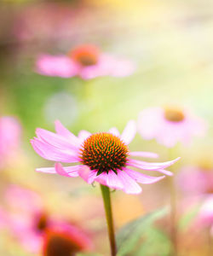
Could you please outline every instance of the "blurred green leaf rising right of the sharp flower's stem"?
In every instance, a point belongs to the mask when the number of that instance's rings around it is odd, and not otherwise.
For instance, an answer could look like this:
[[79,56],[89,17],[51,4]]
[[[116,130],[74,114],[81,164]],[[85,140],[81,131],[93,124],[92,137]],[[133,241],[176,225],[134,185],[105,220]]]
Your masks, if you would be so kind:
[[163,218],[167,212],[168,208],[159,209],[124,225],[117,234],[118,256],[127,256],[135,248],[141,236],[146,234],[153,222]]

